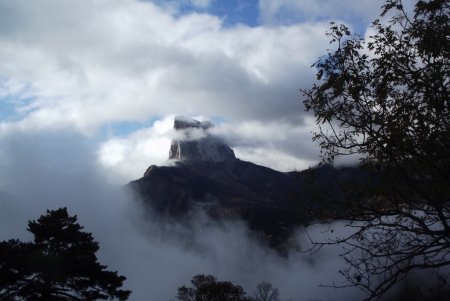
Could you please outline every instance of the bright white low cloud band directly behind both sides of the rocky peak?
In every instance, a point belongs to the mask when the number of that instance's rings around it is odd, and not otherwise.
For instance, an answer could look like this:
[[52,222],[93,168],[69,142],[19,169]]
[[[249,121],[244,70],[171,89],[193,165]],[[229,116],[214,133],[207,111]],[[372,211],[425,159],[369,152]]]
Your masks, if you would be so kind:
[[[180,138],[173,130],[173,122],[174,116],[169,115],[128,135],[109,137],[98,147],[99,164],[115,183],[142,177],[150,165],[171,164],[168,162],[171,139]],[[312,130],[305,122],[309,123],[301,119],[296,122],[219,123],[209,132],[229,144],[241,160],[279,171],[293,171],[313,166],[319,160],[316,146],[301,143],[310,139]],[[204,134],[200,132],[197,134]]]

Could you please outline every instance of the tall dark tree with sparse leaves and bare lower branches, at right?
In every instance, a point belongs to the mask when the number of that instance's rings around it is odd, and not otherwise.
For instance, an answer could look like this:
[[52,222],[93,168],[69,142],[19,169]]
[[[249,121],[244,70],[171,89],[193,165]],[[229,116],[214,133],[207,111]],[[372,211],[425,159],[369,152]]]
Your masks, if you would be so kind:
[[450,265],[450,3],[387,0],[367,39],[332,24],[335,45],[302,90],[325,161],[356,155],[379,179],[346,204],[348,285],[373,299],[415,270]]

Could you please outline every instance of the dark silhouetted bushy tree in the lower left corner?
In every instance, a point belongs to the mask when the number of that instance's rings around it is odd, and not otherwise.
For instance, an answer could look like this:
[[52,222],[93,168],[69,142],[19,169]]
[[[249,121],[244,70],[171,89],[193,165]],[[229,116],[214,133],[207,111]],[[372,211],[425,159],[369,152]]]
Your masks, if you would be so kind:
[[28,222],[33,242],[0,242],[1,300],[127,300],[124,276],[97,261],[91,233],[66,208]]

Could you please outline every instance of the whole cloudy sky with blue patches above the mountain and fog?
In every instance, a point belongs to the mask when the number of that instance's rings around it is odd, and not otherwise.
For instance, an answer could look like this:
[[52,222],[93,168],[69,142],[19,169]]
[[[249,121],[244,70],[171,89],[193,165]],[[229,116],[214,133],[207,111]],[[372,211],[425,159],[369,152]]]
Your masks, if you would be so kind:
[[319,149],[299,89],[314,82],[329,22],[363,35],[381,5],[2,0],[0,140],[75,132],[127,182],[164,164],[173,117],[187,115],[212,120],[241,159],[306,168]]

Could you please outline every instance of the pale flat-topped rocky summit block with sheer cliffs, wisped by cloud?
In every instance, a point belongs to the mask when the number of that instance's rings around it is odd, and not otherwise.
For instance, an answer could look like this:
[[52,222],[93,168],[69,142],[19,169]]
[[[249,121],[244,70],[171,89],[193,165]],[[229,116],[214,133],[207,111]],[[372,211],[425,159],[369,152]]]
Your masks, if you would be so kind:
[[209,129],[214,125],[209,121],[177,116],[174,129],[180,137],[172,140],[169,159],[183,161],[223,162],[234,160],[233,150],[219,137],[213,136]]

